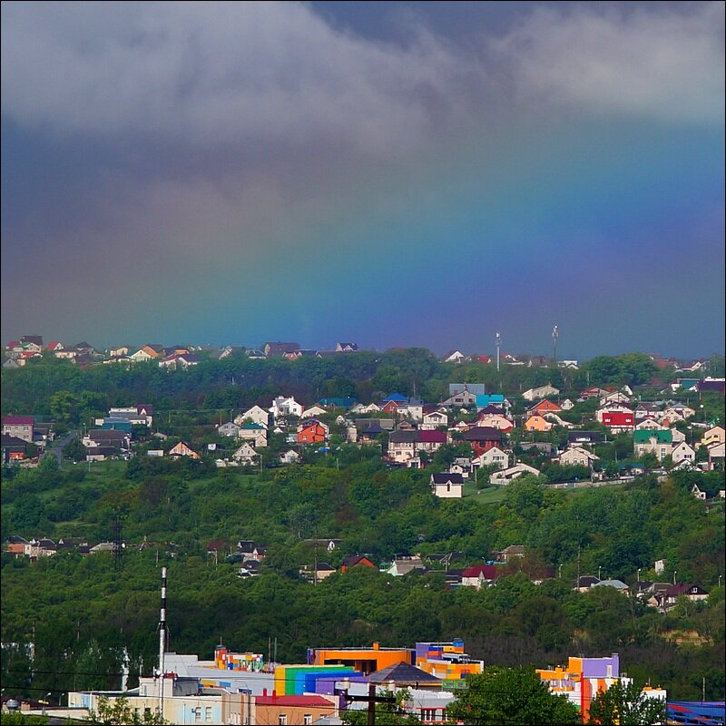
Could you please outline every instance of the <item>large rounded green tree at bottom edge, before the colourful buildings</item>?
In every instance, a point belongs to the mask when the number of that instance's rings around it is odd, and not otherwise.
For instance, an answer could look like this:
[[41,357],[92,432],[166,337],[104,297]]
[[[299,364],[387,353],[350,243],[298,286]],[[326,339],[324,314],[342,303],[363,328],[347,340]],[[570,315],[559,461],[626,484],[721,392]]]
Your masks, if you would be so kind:
[[534,671],[489,666],[466,678],[468,688],[446,711],[455,721],[471,724],[577,723],[579,712],[562,696],[554,696]]

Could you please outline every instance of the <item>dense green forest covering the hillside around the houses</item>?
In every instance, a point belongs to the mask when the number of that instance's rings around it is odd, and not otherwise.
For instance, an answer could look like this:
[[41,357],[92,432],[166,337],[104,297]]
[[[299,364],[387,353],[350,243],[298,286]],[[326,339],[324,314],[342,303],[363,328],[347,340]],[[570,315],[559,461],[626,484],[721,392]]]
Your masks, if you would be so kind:
[[[712,358],[711,375],[722,362]],[[463,380],[512,397],[546,383],[563,395],[627,383],[653,397],[656,374],[670,375],[637,353],[594,358],[576,371],[497,372],[492,364],[442,364],[422,348],[294,362],[240,355],[173,372],[154,364],[80,369],[43,361],[3,371],[2,410],[53,419],[62,431],[109,406],[143,402],[180,433],[219,423],[228,410],[267,407],[280,394],[309,404],[323,396],[376,400],[397,390],[438,401],[449,383]],[[704,395],[703,403],[707,417],[723,420],[723,397]],[[632,451],[632,439],[607,446],[617,460],[628,446]],[[315,646],[411,647],[462,637],[487,665],[546,667],[568,655],[619,652],[624,670],[662,685],[673,699],[699,699],[703,682],[707,699],[724,698],[723,507],[691,494],[694,483],[709,491],[721,486],[722,473],[672,472],[662,482],[638,476],[574,491],[544,486],[546,477],[499,489],[483,479],[478,492],[468,486],[469,495],[446,501],[429,486],[431,472],[445,465],[439,456],[425,470],[390,468],[378,447],[338,441],[301,465],[254,472],[146,456],[89,466],[66,460],[63,468],[46,457],[36,469],[4,467],[3,541],[21,535],[96,543],[111,539],[120,522],[127,543],[120,566],[108,553],[70,550],[34,563],[3,554],[4,687],[30,697],[52,692],[54,699],[71,689],[118,688],[124,657],[130,685],[150,672],[166,565],[171,649],[201,659],[221,640],[231,650],[266,655],[277,643],[278,661],[300,662]],[[393,577],[358,567],[310,584],[299,574],[315,557],[306,540],[326,537],[340,540],[319,553],[334,567],[348,554],[380,565],[418,553],[427,572]],[[239,563],[208,552],[211,540],[233,550],[242,539],[267,547],[259,576],[242,579]],[[453,553],[448,566],[461,569],[510,544],[524,544],[527,554],[480,591],[449,589],[442,566],[427,560]],[[657,559],[666,569],[656,577]],[[677,579],[710,594],[663,614],[611,588],[574,590],[578,574],[599,573],[627,584]]]

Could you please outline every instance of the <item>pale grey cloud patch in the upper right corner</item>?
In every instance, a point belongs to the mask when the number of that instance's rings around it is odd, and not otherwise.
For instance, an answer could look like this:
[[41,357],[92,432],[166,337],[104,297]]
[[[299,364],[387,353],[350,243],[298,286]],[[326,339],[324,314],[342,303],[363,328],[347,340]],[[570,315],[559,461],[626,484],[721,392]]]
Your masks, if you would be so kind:
[[525,103],[711,124],[723,121],[723,33],[721,2],[627,14],[578,5],[536,11],[493,48]]

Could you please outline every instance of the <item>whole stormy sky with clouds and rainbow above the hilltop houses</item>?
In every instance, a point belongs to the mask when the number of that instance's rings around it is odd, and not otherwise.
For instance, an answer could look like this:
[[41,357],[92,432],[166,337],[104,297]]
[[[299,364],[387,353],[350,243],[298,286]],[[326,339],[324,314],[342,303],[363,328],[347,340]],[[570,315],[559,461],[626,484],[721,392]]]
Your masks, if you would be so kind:
[[2,330],[724,345],[722,3],[2,4]]

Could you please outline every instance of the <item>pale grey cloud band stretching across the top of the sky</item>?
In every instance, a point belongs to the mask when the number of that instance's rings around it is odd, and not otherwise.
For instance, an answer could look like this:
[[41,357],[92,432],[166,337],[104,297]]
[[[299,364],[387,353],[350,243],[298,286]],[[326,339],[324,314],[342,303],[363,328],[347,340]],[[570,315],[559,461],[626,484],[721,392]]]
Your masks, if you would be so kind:
[[61,134],[390,152],[511,94],[666,121],[722,116],[721,3],[542,9],[485,37],[478,58],[423,28],[406,47],[364,40],[295,3],[6,2],[2,20],[3,113]]

